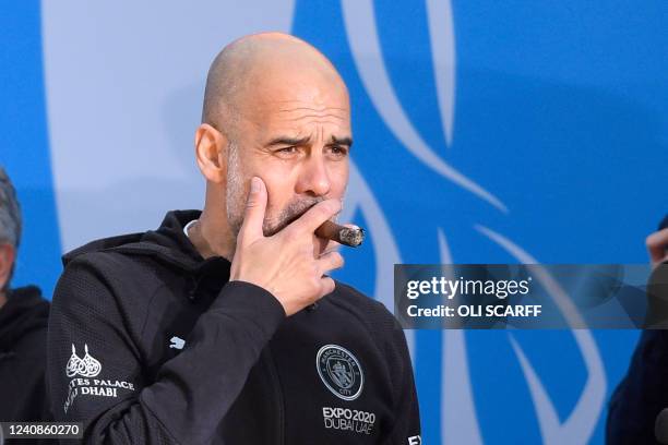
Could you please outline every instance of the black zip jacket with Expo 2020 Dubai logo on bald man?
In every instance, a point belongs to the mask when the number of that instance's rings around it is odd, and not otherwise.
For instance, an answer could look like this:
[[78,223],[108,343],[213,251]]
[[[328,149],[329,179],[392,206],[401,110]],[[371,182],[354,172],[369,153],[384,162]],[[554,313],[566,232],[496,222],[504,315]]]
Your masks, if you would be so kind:
[[407,444],[420,434],[404,333],[336,282],[290,317],[266,290],[228,282],[168,213],[157,231],[65,255],[49,321],[59,421],[86,443]]

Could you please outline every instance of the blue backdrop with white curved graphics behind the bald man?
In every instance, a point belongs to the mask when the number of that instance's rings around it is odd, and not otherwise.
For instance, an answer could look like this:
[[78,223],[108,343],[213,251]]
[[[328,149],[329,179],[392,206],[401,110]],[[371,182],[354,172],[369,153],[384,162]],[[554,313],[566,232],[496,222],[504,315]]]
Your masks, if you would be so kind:
[[[260,29],[312,43],[350,89],[346,209],[371,242],[338,278],[390,305],[398,262],[647,261],[668,212],[666,1],[232,3],[0,5],[15,285],[50,294],[63,251],[201,206],[207,64]],[[637,334],[407,332],[425,443],[601,443]]]

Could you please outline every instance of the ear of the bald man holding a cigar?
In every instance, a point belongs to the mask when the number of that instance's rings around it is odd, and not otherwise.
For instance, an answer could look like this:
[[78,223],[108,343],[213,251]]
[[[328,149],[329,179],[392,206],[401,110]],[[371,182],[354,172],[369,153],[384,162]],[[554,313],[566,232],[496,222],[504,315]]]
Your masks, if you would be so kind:
[[222,183],[227,178],[227,137],[208,123],[195,131],[195,159],[204,178]]

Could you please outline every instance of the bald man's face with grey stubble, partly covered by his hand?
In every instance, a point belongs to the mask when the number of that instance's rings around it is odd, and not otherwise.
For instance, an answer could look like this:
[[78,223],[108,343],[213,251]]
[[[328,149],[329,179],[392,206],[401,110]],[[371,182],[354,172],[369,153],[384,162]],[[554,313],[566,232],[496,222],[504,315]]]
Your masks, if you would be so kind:
[[264,234],[271,236],[325,199],[343,199],[351,144],[347,92],[313,79],[273,82],[253,93],[238,116],[228,151],[227,218],[235,236],[250,179],[269,192]]

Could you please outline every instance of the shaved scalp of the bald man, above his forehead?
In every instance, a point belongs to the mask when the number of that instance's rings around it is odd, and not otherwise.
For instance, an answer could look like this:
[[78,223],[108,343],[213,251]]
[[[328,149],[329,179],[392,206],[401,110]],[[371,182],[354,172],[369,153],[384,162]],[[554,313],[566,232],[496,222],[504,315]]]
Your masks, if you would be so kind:
[[234,137],[236,121],[249,105],[276,96],[281,89],[305,89],[310,84],[347,95],[334,65],[306,41],[283,33],[241,37],[227,45],[211,64],[202,122]]

